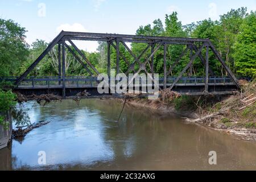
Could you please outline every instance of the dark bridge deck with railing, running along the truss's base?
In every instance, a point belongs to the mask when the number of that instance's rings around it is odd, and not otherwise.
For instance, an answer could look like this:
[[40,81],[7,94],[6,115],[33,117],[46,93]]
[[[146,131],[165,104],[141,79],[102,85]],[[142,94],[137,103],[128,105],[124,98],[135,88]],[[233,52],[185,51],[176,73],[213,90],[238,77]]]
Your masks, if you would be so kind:
[[[167,88],[172,86],[176,77],[167,78]],[[15,82],[16,77],[5,77],[0,78],[1,80]],[[152,84],[145,84],[142,80],[138,80],[134,88],[142,88],[152,86]],[[83,90],[89,90],[93,95],[97,94],[97,77],[65,77],[65,89],[69,90],[70,95],[75,95]],[[159,87],[164,88],[164,78],[159,78]],[[138,84],[139,83],[139,84]],[[236,84],[232,82],[229,77],[210,77],[209,78],[209,93],[207,94],[234,94],[237,91]],[[174,91],[179,92],[183,95],[201,95],[204,93],[205,78],[203,77],[182,77],[176,82]],[[114,87],[113,87],[114,88]],[[43,93],[56,93],[61,95],[63,89],[63,78],[62,77],[27,77],[20,82],[15,90],[18,90],[24,94],[43,94]],[[206,94],[206,93],[204,93]]]

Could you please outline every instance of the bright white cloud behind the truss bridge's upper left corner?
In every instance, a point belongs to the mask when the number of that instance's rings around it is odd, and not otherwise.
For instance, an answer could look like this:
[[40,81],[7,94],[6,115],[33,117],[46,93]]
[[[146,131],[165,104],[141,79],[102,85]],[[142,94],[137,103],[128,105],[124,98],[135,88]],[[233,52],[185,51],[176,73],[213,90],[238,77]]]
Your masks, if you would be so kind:
[[[61,24],[59,27],[56,28],[56,34],[59,34],[60,31],[73,31],[73,32],[88,32],[88,30],[82,26],[80,23],[73,23],[73,24]],[[97,41],[81,41],[81,40],[73,40],[73,43],[80,49],[84,49],[88,52],[95,52],[97,51],[98,42]]]

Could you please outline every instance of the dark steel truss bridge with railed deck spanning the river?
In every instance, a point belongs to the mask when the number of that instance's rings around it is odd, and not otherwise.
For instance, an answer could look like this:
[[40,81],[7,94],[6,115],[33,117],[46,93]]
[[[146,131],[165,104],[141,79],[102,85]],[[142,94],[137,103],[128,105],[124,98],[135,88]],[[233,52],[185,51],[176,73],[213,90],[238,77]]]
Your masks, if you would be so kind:
[[[159,48],[163,47],[163,77],[159,79],[160,89],[171,89],[181,94],[231,94],[234,91],[240,89],[236,76],[232,73],[225,61],[222,60],[220,54],[216,48],[210,42],[209,39],[197,39],[197,38],[172,38],[163,36],[141,36],[141,35],[121,35],[121,34],[97,34],[86,32],[67,32],[61,31],[59,35],[51,43],[49,43],[46,50],[30,65],[30,67],[19,77],[5,77],[0,80],[7,80],[14,82],[15,90],[23,94],[44,94],[55,93],[63,97],[72,96],[83,90],[88,90],[89,93],[97,94],[97,76],[100,72],[94,67],[88,58],[82,53],[82,51],[73,43],[73,40],[83,41],[100,41],[106,42],[108,45],[108,76],[110,77],[110,48],[113,47],[116,51],[115,72],[118,74],[120,70],[120,60],[127,64],[127,71],[125,75],[134,73],[134,77],[137,77],[139,73],[152,73],[151,77],[154,82],[154,56]],[[71,48],[71,45],[75,51]],[[139,56],[135,55],[127,43],[143,43],[146,44],[146,48],[141,52]],[[125,55],[120,51],[121,44],[133,57],[134,61],[130,63]],[[53,47],[57,45],[58,50],[58,72],[56,77],[31,77],[28,74],[38,65],[40,61],[46,56]],[[184,51],[175,60],[174,64],[167,69],[167,48],[169,45],[183,45]],[[205,53],[203,50],[205,49]],[[146,60],[142,61],[142,56],[146,55],[146,52],[150,50],[150,56]],[[90,76],[76,76],[69,77],[65,75],[65,51],[71,52],[75,59],[82,65],[82,67],[89,73]],[[190,52],[188,64],[183,68],[183,71],[179,73],[177,77],[169,77],[176,65],[180,63],[182,57]],[[217,77],[209,67],[209,51],[212,51],[217,60],[220,61],[222,67],[228,73],[228,77]],[[193,62],[196,57],[201,60],[202,67],[205,68],[205,77],[192,77]],[[113,60],[112,60],[113,61]],[[137,65],[137,67],[135,67]],[[135,69],[138,68],[138,69]],[[189,70],[190,77],[183,77],[184,73]],[[129,82],[130,83],[130,82]],[[128,84],[129,84],[128,83]]]

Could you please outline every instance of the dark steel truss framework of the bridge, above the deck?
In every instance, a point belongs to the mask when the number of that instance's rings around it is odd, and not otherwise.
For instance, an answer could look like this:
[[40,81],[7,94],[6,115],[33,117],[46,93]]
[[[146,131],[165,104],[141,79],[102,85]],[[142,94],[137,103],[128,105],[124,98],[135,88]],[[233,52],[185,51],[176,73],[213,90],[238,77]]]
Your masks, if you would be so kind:
[[[134,75],[138,75],[140,72],[145,73],[152,73],[154,74],[154,55],[159,50],[160,47],[163,47],[163,60],[164,60],[164,77],[163,77],[163,88],[170,88],[173,89],[174,86],[177,84],[177,82],[182,78],[185,72],[187,72],[188,69],[190,69],[190,72],[192,72],[191,68],[193,65],[193,62],[195,61],[196,57],[199,57],[201,60],[201,63],[205,67],[205,92],[208,92],[209,88],[209,76],[214,76],[214,73],[212,69],[209,68],[209,49],[212,50],[213,54],[217,57],[217,60],[220,61],[221,65],[224,67],[225,71],[228,73],[229,77],[231,78],[234,85],[237,86],[237,88],[240,88],[240,85],[238,84],[236,76],[232,73],[228,65],[226,65],[225,61],[222,60],[220,54],[216,50],[216,48],[213,46],[212,42],[210,42],[209,39],[197,39],[197,38],[172,38],[172,37],[163,37],[163,36],[141,36],[141,35],[121,35],[121,34],[97,34],[97,33],[87,33],[87,32],[67,32],[67,31],[61,31],[59,35],[56,36],[55,39],[51,43],[49,43],[48,47],[45,51],[42,52],[42,54],[30,65],[30,67],[18,78],[16,78],[15,84],[18,85],[21,81],[23,81],[28,74],[38,65],[38,63],[44,58],[44,56],[47,55],[49,51],[56,45],[58,46],[58,63],[59,63],[59,79],[62,80],[62,89],[63,89],[63,96],[65,96],[65,51],[68,50],[72,53],[72,55],[75,57],[77,61],[82,65],[84,69],[89,73],[90,76],[97,76],[100,73],[97,71],[97,69],[90,63],[90,61],[87,59],[87,57],[82,53],[82,51],[76,46],[75,43],[73,43],[73,40],[84,40],[84,41],[97,41],[97,42],[106,42],[108,44],[108,76],[110,77],[110,47],[113,47],[116,51],[116,73],[118,74],[120,72],[119,64],[120,59],[125,61],[125,63],[128,66],[128,70],[126,71],[126,75],[128,75],[130,72],[133,72]],[[71,44],[71,46],[75,49],[76,52],[73,51],[73,49],[68,46],[67,42]],[[144,43],[147,44],[147,47],[141,52],[139,56],[136,56],[129,46],[127,46],[127,43]],[[134,58],[133,63],[130,63],[125,55],[122,54],[120,51],[120,45],[123,45],[127,51],[130,53],[130,55]],[[177,60],[175,60],[175,63],[171,66],[171,68],[167,69],[167,47],[168,45],[184,45],[186,48],[181,53],[181,55],[178,57]],[[146,59],[146,61],[141,61],[142,56],[148,51],[151,50],[150,56]],[[203,49],[205,49],[205,55],[202,52]],[[179,64],[179,61],[181,58],[190,51],[190,60],[189,63],[184,67],[183,71],[180,72],[179,76],[175,77],[175,80],[172,81],[172,84],[168,85],[167,80],[168,76],[171,74],[172,70],[174,69],[175,65]],[[195,52],[195,53],[194,53]],[[77,53],[79,56],[77,56]],[[61,56],[62,55],[62,56]],[[80,59],[82,58],[82,60]],[[84,62],[85,61],[85,62]],[[62,62],[62,64],[61,64]],[[135,70],[135,65],[139,65],[139,68]],[[147,71],[146,65],[150,65],[150,72]],[[90,68],[90,69],[89,69]],[[92,71],[91,71],[92,70]],[[191,73],[192,75],[192,73]],[[154,79],[154,78],[152,78]]]

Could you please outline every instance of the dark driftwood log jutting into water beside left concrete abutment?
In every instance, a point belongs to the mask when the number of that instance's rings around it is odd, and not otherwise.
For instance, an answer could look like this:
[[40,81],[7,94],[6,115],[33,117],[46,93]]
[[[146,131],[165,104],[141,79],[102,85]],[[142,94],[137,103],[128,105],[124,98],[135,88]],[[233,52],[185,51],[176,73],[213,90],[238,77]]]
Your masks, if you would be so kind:
[[[49,121],[40,121],[39,123],[33,123],[32,125],[17,127],[17,130],[13,130],[13,137],[25,137],[31,130],[47,125],[48,123]],[[22,129],[23,127],[26,127],[26,129]]]

